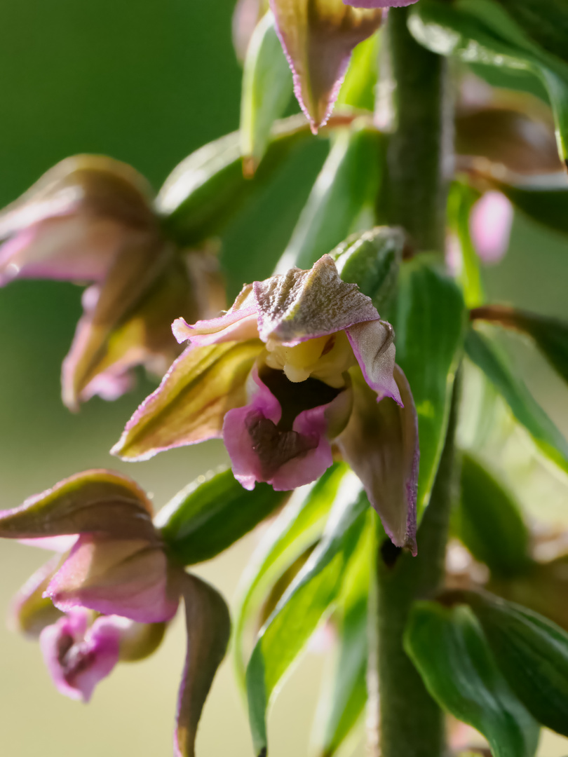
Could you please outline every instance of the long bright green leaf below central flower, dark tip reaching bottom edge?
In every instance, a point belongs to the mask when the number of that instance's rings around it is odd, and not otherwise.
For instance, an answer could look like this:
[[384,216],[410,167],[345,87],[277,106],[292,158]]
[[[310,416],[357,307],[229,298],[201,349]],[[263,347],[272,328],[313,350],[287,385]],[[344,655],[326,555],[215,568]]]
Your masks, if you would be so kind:
[[370,505],[357,493],[336,501],[320,544],[261,629],[248,662],[248,716],[259,757],[267,754],[266,712],[276,686],[338,597],[360,540]]

